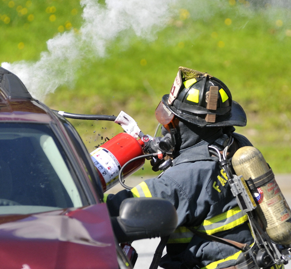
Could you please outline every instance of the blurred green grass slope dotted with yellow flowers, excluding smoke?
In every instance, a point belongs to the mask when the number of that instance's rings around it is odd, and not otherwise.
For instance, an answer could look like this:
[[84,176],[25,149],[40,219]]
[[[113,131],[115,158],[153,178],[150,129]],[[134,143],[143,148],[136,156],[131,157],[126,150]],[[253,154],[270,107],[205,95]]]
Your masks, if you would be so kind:
[[[290,10],[264,5],[254,9],[246,1],[240,2],[211,1],[208,10],[202,4],[181,5],[190,17],[173,18],[151,41],[130,31],[120,34],[110,43],[106,57],[85,58],[74,83],[60,86],[45,103],[75,113],[117,115],[123,110],[144,133],[153,135],[155,108],[169,92],[178,67],[205,71],[226,83],[233,99],[245,109],[248,124],[237,131],[262,151],[274,172],[291,172]],[[1,62],[36,61],[60,25],[65,27],[67,21],[76,29],[81,25],[79,1],[32,1],[27,13],[34,14],[31,22],[27,16],[12,13],[26,1],[17,1],[11,10],[8,0],[0,3],[6,13],[11,11],[12,18],[9,24],[0,21]],[[56,11],[46,13],[51,6]],[[71,13],[74,8],[77,15]],[[56,15],[54,22],[49,21],[52,14]],[[22,49],[20,42],[24,43]],[[102,136],[111,138],[123,131],[109,122],[71,121],[88,151],[104,142]],[[139,173],[148,172],[149,165]]]

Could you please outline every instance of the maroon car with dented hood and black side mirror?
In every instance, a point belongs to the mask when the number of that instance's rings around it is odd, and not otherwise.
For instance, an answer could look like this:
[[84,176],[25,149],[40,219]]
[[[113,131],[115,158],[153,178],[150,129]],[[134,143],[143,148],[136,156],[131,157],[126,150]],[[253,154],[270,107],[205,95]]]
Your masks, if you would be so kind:
[[111,218],[74,127],[1,67],[0,145],[0,269],[132,268],[120,242],[175,229],[162,199],[127,199]]

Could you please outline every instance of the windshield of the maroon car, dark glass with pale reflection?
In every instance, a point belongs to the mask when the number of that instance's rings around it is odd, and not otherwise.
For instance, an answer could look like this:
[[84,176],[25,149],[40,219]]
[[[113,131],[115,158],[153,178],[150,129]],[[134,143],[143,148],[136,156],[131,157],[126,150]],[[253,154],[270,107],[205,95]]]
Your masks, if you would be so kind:
[[87,205],[49,125],[0,123],[0,214]]

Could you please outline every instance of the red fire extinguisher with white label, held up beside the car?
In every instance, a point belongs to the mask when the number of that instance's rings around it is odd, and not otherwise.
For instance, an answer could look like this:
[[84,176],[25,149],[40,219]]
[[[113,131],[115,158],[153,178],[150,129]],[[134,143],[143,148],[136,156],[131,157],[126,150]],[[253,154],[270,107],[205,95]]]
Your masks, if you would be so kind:
[[[143,145],[141,139],[136,140],[130,134],[120,133],[90,153],[102,182],[103,191],[107,191],[119,182],[120,168],[127,161],[144,154]],[[123,170],[123,178],[134,173],[144,163],[143,158],[127,165]]]

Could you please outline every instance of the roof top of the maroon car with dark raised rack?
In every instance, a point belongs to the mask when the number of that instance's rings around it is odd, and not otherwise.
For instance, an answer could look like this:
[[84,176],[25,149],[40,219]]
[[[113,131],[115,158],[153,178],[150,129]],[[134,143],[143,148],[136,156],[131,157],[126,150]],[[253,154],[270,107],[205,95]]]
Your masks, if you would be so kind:
[[0,121],[50,123],[54,119],[47,112],[15,74],[0,67]]

